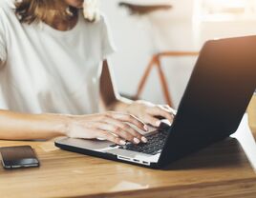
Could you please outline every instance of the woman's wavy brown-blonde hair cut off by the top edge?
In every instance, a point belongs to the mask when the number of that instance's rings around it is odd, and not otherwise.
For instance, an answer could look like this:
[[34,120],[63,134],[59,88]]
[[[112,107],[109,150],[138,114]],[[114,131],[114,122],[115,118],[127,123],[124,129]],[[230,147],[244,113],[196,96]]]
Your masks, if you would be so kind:
[[[96,3],[94,8],[87,8],[90,5],[85,0],[84,15],[85,19],[90,22],[96,21],[97,9]],[[96,2],[96,0],[93,0]],[[91,14],[87,14],[86,10],[90,10]],[[32,24],[33,22],[48,21],[53,22],[55,16],[63,19],[69,19],[77,9],[70,8],[67,10],[63,0],[19,0],[15,3],[15,13],[21,23]],[[92,17],[93,11],[93,17]],[[87,16],[88,15],[88,16]]]

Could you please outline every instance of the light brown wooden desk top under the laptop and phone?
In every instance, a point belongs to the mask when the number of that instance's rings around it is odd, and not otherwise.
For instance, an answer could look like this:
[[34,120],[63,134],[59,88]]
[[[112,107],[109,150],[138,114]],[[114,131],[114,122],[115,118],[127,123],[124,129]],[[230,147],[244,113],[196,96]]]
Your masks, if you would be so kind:
[[[246,120],[238,136],[252,137],[245,125]],[[0,141],[1,147],[18,145],[35,148],[41,167],[17,170],[1,167],[1,198],[256,197],[256,174],[236,139],[205,148],[165,170],[139,168],[60,150],[51,141]]]

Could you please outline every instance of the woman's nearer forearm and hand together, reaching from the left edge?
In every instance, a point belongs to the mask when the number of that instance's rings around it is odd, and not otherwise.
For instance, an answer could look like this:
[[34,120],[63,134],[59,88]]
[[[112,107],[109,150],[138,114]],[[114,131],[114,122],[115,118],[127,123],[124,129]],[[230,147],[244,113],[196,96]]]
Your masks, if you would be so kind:
[[135,144],[147,141],[138,131],[125,123],[145,130],[143,123],[124,113],[105,112],[75,116],[0,110],[0,139],[47,140],[57,136],[69,136],[83,139],[102,138],[119,145],[125,145],[124,140]]

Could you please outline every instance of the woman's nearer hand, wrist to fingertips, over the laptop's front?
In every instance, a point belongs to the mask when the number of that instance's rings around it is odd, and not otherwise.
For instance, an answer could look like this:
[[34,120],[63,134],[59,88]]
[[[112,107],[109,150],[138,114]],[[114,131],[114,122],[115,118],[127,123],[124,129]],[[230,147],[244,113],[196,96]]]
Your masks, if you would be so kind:
[[147,131],[144,123],[133,115],[120,112],[104,112],[92,115],[68,116],[65,134],[72,138],[105,139],[125,145],[125,141],[139,144],[146,143],[147,139],[136,129]]

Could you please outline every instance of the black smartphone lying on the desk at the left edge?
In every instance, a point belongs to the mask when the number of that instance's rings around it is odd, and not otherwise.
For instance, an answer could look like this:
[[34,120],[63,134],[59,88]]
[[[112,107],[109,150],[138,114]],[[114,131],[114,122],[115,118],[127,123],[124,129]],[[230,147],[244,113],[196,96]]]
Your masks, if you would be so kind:
[[36,168],[39,161],[31,146],[0,148],[4,168]]

